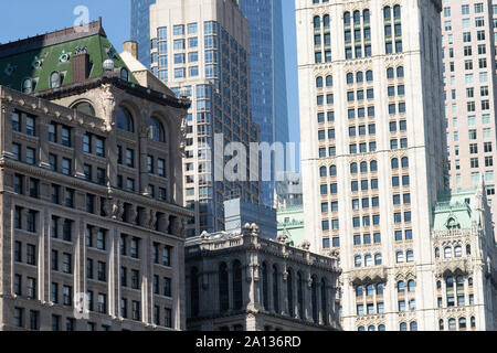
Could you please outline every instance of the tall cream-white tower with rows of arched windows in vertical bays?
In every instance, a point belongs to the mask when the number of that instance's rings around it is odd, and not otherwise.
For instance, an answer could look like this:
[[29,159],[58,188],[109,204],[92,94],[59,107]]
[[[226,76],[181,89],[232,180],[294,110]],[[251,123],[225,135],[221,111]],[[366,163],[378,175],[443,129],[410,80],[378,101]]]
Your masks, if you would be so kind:
[[[343,329],[434,330],[432,210],[448,184],[442,1],[296,0],[296,11],[306,235],[339,252]],[[409,298],[400,278],[416,285]]]

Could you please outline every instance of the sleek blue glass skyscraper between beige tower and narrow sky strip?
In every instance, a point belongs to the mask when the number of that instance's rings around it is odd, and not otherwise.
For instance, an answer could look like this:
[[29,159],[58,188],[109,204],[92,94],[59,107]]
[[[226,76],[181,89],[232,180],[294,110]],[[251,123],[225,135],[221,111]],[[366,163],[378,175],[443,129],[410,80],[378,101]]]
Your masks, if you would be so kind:
[[[282,0],[240,0],[240,9],[250,23],[250,77],[252,119],[260,126],[261,142],[287,143],[285,44]],[[283,165],[282,165],[283,167]],[[274,206],[275,171],[271,182],[261,183],[261,199]]]

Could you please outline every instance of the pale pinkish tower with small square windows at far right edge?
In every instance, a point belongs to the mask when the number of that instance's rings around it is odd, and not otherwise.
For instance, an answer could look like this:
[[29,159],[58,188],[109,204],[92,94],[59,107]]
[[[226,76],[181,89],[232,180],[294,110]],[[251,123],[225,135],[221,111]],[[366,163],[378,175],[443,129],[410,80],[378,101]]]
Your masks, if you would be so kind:
[[490,0],[444,3],[445,115],[451,185],[485,179],[494,220],[497,214],[496,65]]

